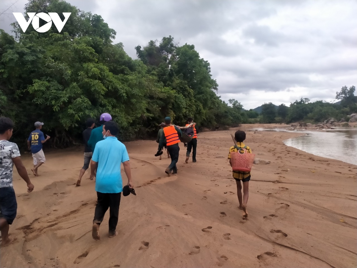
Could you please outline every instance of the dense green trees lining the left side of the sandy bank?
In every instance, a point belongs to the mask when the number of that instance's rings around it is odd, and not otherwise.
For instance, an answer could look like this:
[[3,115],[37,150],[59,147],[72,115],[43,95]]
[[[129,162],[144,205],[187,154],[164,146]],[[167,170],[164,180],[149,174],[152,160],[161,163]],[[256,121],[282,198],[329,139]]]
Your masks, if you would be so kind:
[[45,122],[52,146],[69,146],[86,118],[104,112],[120,125],[122,140],[155,133],[165,116],[176,124],[193,116],[209,128],[242,123],[241,109],[217,95],[210,64],[194,45],[164,37],[137,46],[132,59],[122,43],[113,44],[116,32],[100,15],[63,0],[30,0],[27,12],[71,16],[61,33],[31,25],[23,33],[18,23],[15,38],[0,30],[0,115],[15,121],[20,146],[35,121]]

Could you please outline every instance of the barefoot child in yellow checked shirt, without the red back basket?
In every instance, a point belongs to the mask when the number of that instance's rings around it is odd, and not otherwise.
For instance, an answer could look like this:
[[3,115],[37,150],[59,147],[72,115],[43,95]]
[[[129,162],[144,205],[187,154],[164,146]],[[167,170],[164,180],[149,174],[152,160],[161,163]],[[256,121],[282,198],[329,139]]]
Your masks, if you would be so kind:
[[[243,141],[246,139],[246,133],[244,131],[238,130],[234,134],[234,139],[236,140],[236,146],[239,148],[243,148],[246,145],[243,143]],[[228,153],[228,159],[229,163],[232,167],[232,162],[231,162],[231,153],[236,152],[238,153],[238,149],[235,146],[232,146],[229,149]],[[245,148],[247,150],[247,153],[252,153],[252,150],[250,149],[249,146],[246,146]],[[243,150],[240,150],[241,153],[244,153]],[[248,212],[247,212],[247,203],[248,203],[248,197],[249,197],[249,180],[251,178],[250,172],[245,172],[245,171],[233,171],[232,172],[233,178],[236,180],[237,183],[237,195],[238,195],[238,202],[239,202],[239,209],[243,210],[243,219],[246,219],[248,217]],[[242,185],[241,181],[243,183],[243,200],[242,200]]]

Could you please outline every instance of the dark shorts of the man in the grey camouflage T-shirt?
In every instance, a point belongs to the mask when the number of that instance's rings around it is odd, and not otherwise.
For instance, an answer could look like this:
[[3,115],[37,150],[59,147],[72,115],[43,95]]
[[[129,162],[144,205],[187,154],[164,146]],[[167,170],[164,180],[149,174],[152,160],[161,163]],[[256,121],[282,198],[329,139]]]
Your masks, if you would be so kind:
[[0,218],[12,224],[16,217],[17,202],[14,188],[0,188]]

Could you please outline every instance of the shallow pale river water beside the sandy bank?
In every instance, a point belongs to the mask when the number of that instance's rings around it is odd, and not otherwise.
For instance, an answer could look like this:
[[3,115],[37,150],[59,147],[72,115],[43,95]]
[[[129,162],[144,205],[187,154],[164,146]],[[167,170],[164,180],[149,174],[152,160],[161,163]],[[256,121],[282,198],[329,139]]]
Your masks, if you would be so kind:
[[301,132],[307,135],[285,140],[284,144],[310,154],[357,165],[357,130]]

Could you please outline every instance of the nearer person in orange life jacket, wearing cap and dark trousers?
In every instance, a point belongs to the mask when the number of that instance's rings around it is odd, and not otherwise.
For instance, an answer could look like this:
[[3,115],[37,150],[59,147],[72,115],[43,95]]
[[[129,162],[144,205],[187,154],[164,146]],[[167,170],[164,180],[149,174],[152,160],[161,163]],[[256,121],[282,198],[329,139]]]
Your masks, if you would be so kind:
[[159,150],[164,148],[166,139],[166,147],[171,156],[171,164],[165,169],[165,173],[170,176],[171,172],[172,174],[177,173],[176,163],[178,162],[178,154],[180,152],[180,147],[178,147],[180,139],[178,135],[182,136],[182,131],[178,126],[171,125],[171,118],[169,116],[165,117],[165,125],[164,135],[161,136],[159,141]]

